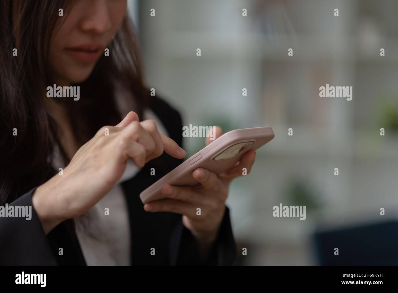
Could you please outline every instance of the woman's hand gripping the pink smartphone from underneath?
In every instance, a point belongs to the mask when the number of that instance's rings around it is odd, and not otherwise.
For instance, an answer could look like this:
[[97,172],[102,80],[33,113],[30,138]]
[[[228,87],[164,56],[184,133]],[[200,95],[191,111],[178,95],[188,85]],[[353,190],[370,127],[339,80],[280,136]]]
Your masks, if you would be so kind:
[[[221,136],[221,129],[216,128],[216,138]],[[207,140],[206,144],[209,144]],[[242,176],[242,169],[247,173],[252,169],[255,151],[248,151],[242,159],[228,171],[217,175],[209,170],[197,168],[192,177],[198,183],[195,187],[179,187],[165,185],[162,194],[168,199],[152,201],[144,205],[148,212],[175,212],[182,214],[184,226],[197,239],[201,256],[207,257],[221,225],[225,213],[225,201],[228,197],[228,188],[232,179]],[[197,214],[197,208],[201,214]]]

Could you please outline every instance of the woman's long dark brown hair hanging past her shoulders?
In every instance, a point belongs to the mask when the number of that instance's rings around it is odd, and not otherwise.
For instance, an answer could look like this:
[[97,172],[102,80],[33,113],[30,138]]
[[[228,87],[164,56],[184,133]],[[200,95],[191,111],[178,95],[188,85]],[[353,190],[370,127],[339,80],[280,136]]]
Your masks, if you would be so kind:
[[[0,4],[0,205],[14,201],[54,175],[54,147],[59,130],[43,101],[43,89],[53,85],[49,47],[59,22],[59,8],[67,17],[73,1],[2,0]],[[13,56],[16,48],[18,55]],[[80,100],[58,101],[71,117],[80,145],[104,125],[121,120],[112,79],[136,97],[141,119],[149,97],[142,82],[139,45],[128,16],[90,77],[80,85]],[[17,135],[14,136],[14,128]]]

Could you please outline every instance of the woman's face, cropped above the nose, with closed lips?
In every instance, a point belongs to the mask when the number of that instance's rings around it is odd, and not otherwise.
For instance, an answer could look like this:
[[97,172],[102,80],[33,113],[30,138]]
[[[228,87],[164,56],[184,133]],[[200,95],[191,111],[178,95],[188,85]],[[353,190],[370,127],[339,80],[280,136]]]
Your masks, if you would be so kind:
[[120,28],[126,8],[126,0],[75,2],[70,14],[51,39],[50,65],[57,85],[80,83],[90,76]]

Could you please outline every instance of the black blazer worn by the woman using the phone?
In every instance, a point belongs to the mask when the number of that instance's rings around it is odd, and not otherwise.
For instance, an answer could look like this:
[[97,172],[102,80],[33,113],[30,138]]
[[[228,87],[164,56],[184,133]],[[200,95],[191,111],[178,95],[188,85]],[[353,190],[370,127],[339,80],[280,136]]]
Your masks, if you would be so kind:
[[[152,96],[150,109],[160,118],[170,138],[181,146],[181,116],[166,102]],[[177,167],[183,160],[164,153],[146,163],[132,179],[122,183],[129,210],[131,229],[131,264],[133,265],[230,265],[236,256],[229,210],[226,208],[219,236],[210,258],[201,262],[191,232],[183,226],[182,216],[170,212],[150,213],[143,209],[139,194],[156,180]],[[150,175],[154,167],[156,175]],[[31,206],[35,189],[10,205]],[[156,254],[150,255],[155,248]],[[59,255],[59,248],[63,255]],[[66,220],[45,235],[32,207],[31,220],[0,217],[0,265],[85,265],[72,219]]]

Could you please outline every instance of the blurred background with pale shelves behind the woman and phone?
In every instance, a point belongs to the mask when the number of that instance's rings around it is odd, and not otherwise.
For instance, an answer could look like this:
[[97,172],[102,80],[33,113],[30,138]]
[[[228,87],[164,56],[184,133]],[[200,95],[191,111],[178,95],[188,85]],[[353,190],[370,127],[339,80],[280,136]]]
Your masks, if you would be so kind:
[[[236,264],[398,264],[398,1],[129,7],[146,85],[178,108],[183,125],[275,132],[252,173],[230,188]],[[352,86],[353,99],[320,98],[327,83]],[[187,157],[203,146],[203,138],[184,138]],[[306,220],[274,218],[280,203],[305,205]]]

